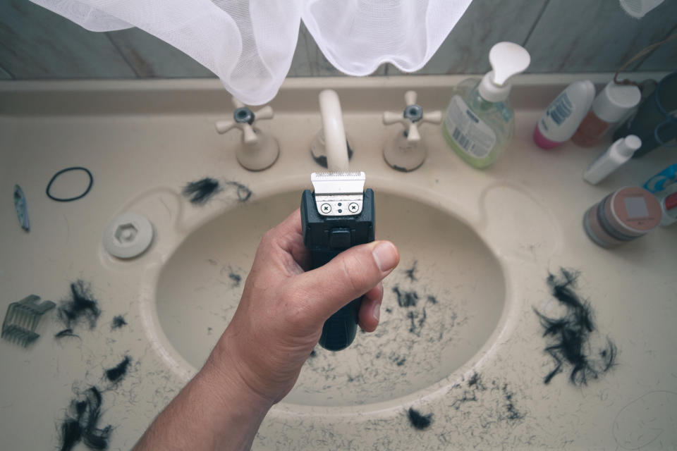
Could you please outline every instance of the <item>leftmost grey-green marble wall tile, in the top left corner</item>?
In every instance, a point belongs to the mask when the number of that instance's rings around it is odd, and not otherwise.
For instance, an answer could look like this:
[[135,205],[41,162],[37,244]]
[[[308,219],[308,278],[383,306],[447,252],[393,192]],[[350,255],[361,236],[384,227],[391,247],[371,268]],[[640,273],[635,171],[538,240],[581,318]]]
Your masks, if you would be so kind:
[[128,78],[108,37],[28,0],[0,1],[0,65],[15,78]]

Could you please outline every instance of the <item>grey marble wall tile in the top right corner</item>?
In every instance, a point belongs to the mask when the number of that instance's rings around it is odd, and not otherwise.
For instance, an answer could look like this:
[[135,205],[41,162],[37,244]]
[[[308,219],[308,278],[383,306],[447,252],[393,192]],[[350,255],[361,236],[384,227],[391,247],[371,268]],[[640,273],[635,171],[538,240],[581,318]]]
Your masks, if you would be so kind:
[[[550,0],[525,45],[532,56],[529,71],[614,72],[635,53],[664,38],[675,25],[677,1],[666,1],[653,12],[657,14],[637,20],[616,0]],[[668,70],[674,60],[657,66]]]

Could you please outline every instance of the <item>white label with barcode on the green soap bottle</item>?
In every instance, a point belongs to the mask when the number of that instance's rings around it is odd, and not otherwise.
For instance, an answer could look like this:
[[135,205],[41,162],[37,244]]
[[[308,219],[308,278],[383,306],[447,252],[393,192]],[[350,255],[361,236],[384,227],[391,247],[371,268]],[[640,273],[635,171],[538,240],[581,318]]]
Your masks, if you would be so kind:
[[496,144],[496,134],[455,95],[446,111],[446,130],[456,145],[473,158],[483,159]]

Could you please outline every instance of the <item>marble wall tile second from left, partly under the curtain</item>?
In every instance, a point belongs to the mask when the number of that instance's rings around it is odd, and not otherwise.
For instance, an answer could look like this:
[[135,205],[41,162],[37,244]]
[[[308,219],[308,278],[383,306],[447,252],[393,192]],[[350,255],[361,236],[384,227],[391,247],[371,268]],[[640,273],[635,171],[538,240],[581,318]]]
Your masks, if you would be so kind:
[[211,70],[161,39],[129,28],[106,35],[140,78],[211,78]]

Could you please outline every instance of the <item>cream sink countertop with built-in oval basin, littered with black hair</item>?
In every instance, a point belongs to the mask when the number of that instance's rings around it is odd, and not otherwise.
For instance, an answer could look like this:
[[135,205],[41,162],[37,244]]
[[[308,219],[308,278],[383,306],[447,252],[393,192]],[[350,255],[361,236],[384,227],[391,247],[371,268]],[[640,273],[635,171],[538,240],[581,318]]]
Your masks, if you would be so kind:
[[[102,309],[94,328],[74,328],[77,337],[54,338],[65,326],[50,311],[30,347],[0,341],[7,449],[58,447],[71,399],[92,385],[102,390],[99,427],[114,428],[110,448],[133,446],[227,325],[257,240],[298,206],[320,170],[309,147],[320,128],[317,93],[327,87],[341,98],[355,147],[350,168],[365,171],[377,193],[377,237],[401,247],[401,264],[384,282],[377,332],[358,333],[343,357],[318,348],[253,449],[676,448],[677,226],[606,250],[582,225],[592,204],[641,185],[675,162],[673,151],[630,161],[592,186],[581,174],[608,142],[544,151],[531,139],[568,83],[601,86],[610,77],[520,77],[515,136],[494,166],[463,163],[439,125],[427,124],[428,157],[411,173],[384,162],[396,128],[382,125],[382,111],[401,111],[408,89],[426,111],[444,111],[463,78],[288,80],[272,102],[275,118],[257,124],[279,140],[279,159],[256,173],[236,160],[240,132],[214,130],[232,111],[217,80],[0,82],[0,311],[30,294],[58,304],[76,280],[91,284]],[[69,166],[92,172],[91,192],[51,201],[49,179]],[[80,175],[55,189],[77,189]],[[190,204],[181,189],[203,177],[233,184]],[[15,184],[28,201],[30,233],[9,202]],[[156,233],[130,261],[102,245],[124,211],[147,216]],[[618,349],[615,366],[583,386],[569,381],[570,368],[544,383],[554,362],[533,309],[559,312],[546,279],[562,267],[580,271],[576,292],[590,302],[594,339]],[[415,293],[416,305],[398,304],[396,289]],[[127,324],[113,328],[118,315]],[[126,376],[106,381],[104,370],[127,355]],[[432,414],[429,428],[413,428],[410,407]]]

